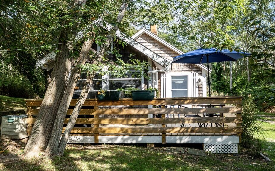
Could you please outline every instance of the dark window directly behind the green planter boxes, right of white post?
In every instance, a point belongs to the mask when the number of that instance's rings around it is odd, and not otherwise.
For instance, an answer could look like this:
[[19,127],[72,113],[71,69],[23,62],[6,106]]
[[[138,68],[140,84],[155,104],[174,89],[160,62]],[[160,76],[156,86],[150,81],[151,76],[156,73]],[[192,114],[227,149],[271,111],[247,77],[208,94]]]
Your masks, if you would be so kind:
[[117,88],[138,88],[141,89],[141,78],[137,78],[134,70],[126,73],[126,77],[116,78],[109,74],[109,90],[116,90]]

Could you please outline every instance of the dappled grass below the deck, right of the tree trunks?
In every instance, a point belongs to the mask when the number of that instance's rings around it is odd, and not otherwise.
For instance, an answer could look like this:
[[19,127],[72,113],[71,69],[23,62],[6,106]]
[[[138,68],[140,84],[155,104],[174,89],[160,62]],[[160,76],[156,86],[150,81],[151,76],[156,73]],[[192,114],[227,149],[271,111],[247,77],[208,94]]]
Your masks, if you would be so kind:
[[[101,145],[102,146],[102,145]],[[165,148],[146,149],[112,145],[104,150],[68,149],[65,157],[74,158],[82,170],[272,170],[262,159],[245,154],[207,154],[190,156],[167,153]],[[186,152],[186,150],[185,150]]]

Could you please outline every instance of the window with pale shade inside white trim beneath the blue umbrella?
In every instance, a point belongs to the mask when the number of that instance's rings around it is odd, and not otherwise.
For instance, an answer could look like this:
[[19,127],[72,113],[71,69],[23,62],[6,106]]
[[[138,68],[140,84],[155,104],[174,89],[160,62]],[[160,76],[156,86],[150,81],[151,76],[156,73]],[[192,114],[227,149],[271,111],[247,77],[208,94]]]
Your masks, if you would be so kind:
[[188,83],[187,75],[171,76],[172,80],[172,97],[187,97],[188,96]]

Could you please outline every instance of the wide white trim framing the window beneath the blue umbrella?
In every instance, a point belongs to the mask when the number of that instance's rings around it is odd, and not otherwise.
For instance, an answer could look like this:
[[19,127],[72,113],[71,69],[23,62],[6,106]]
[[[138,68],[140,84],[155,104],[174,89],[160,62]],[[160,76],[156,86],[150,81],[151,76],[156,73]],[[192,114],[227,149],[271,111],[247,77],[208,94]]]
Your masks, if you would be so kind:
[[169,72],[165,74],[165,95],[166,97],[172,97],[172,76],[187,76],[187,97],[191,97],[191,72]]

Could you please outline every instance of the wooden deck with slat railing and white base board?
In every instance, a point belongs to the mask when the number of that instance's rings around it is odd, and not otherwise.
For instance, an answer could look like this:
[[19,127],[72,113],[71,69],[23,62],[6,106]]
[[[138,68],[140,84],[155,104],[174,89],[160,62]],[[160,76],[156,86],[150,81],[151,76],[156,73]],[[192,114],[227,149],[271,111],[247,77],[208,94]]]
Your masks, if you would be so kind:
[[[148,101],[87,99],[79,115],[88,117],[77,118],[78,126],[72,129],[69,142],[239,143],[242,132],[241,99],[241,96],[156,98]],[[29,135],[41,102],[42,99],[26,100]],[[76,100],[73,99],[70,106],[73,107],[75,104]],[[202,108],[196,106],[198,104],[227,105]],[[148,108],[148,105],[155,105],[154,107],[157,108]],[[166,108],[166,105],[185,105],[190,108]],[[69,109],[68,117],[71,112],[72,109]],[[223,117],[203,117],[204,113],[223,113]],[[151,117],[156,114],[161,118]],[[201,117],[186,118],[183,114],[199,114]],[[68,117],[64,124],[68,123]],[[212,127],[210,123],[213,123]],[[221,124],[216,127],[214,123],[225,123],[225,126]],[[81,126],[83,124],[87,127]],[[183,127],[181,127],[182,124],[184,124]],[[199,124],[208,124],[208,126],[199,127]]]

